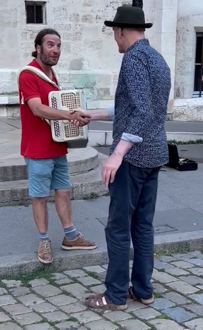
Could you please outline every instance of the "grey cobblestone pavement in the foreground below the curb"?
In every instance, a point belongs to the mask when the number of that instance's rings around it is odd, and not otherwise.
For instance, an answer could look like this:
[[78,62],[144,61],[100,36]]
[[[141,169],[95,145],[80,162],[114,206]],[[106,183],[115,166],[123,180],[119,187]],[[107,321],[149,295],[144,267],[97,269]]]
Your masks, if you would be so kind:
[[0,330],[203,330],[203,254],[156,256],[154,266],[155,302],[128,300],[125,312],[92,311],[83,303],[89,293],[104,292],[107,265],[3,279]]

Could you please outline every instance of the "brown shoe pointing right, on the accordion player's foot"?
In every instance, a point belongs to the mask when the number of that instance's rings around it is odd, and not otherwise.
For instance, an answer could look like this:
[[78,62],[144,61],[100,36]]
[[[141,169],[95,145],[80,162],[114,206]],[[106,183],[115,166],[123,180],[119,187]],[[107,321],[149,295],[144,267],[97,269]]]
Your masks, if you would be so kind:
[[63,250],[93,250],[97,248],[95,242],[91,242],[81,233],[78,233],[78,237],[74,240],[69,240],[67,237],[64,237],[62,242]]

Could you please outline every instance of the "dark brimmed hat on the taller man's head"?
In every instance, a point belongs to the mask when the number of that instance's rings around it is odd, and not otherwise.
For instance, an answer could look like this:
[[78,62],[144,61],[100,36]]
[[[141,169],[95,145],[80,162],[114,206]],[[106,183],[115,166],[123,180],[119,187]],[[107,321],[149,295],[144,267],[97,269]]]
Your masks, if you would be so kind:
[[124,5],[118,7],[114,19],[105,20],[105,25],[118,28],[149,29],[152,23],[145,23],[145,13],[140,7]]

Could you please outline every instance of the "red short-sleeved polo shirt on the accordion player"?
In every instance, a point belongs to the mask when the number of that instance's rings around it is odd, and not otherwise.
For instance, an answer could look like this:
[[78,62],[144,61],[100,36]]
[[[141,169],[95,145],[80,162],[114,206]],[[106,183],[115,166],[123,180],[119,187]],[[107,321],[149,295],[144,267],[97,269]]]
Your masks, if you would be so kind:
[[[30,66],[42,68],[34,59]],[[56,83],[56,81],[55,81]],[[19,76],[19,100],[22,123],[21,155],[28,158],[53,158],[67,154],[66,142],[55,142],[51,128],[45,120],[34,116],[28,106],[28,100],[40,97],[42,104],[48,106],[48,95],[58,90],[52,84],[38,77],[31,71],[23,71]],[[22,94],[24,104],[21,104]]]

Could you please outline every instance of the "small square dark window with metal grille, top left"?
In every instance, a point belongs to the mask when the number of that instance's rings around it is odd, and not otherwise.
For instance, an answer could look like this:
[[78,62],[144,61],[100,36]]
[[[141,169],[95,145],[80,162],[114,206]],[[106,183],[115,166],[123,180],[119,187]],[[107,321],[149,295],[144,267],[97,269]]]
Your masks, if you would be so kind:
[[27,24],[46,24],[46,3],[26,1],[26,23]]

